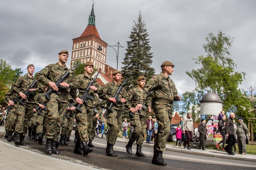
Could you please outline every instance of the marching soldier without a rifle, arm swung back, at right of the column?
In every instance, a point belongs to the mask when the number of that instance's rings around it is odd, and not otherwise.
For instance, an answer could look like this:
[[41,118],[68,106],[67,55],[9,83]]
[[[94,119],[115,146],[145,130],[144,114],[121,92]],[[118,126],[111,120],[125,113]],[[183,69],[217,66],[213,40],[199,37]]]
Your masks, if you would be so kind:
[[141,98],[135,108],[136,111],[141,109],[145,104],[145,98],[154,91],[154,112],[156,114],[158,122],[157,138],[154,144],[154,155],[152,163],[156,165],[167,165],[163,160],[162,152],[165,150],[166,142],[170,134],[170,121],[172,117],[172,103],[173,100],[181,100],[181,97],[177,95],[177,89],[174,82],[169,78],[172,75],[174,64],[166,61],[161,65],[162,72],[154,76],[147,82]]

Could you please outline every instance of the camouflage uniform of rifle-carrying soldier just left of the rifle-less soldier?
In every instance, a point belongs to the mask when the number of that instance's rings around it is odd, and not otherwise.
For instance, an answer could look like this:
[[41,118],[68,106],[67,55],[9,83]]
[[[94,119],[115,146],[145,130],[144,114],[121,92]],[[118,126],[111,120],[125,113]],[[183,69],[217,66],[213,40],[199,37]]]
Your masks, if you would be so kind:
[[[136,107],[138,104],[138,101],[140,100],[140,96],[142,94],[142,91],[139,89],[139,87],[133,88],[129,91],[129,99],[132,104],[132,107]],[[152,98],[150,98],[152,99]],[[151,107],[151,100],[147,100],[147,106]],[[134,117],[130,117],[130,126],[133,126],[134,130],[130,136],[129,141],[134,142],[136,141],[136,144],[139,146],[143,146],[144,141],[144,134],[146,129],[146,111],[144,109],[141,109],[141,113],[138,111],[134,113]]]

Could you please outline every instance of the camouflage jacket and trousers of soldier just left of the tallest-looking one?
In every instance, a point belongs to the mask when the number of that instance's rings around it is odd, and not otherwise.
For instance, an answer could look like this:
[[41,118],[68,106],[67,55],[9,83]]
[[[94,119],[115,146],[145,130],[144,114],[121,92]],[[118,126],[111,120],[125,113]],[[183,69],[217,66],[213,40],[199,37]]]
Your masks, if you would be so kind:
[[[18,80],[12,85],[12,89],[15,91],[16,94],[19,94],[19,92],[23,92],[25,94],[25,92],[34,81],[34,77],[30,78],[28,75],[24,75],[18,78]],[[43,92],[43,87],[40,83],[35,84],[33,89],[35,89],[36,92]],[[33,91],[28,98],[23,100],[24,105],[20,103],[18,103],[17,105],[17,121],[15,132],[22,134],[23,136],[27,134],[28,122],[29,119],[33,116],[34,96],[35,91]]]

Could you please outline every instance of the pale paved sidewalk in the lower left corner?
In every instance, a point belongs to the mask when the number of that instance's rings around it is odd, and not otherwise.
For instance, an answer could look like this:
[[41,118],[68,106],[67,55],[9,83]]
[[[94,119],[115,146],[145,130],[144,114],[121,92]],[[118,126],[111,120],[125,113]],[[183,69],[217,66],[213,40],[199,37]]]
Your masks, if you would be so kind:
[[[0,126],[0,135],[4,136],[4,126]],[[47,164],[47,165],[46,165]],[[4,170],[16,169],[96,169],[67,160],[35,153],[20,147],[15,147],[0,140],[0,167]]]

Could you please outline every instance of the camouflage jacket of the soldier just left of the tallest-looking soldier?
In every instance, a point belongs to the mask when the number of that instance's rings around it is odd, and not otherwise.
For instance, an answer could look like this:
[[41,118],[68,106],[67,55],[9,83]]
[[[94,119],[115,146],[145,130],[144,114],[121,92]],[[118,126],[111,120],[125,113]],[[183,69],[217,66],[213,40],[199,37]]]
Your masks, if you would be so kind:
[[[16,94],[19,94],[19,92],[23,92],[25,94],[25,92],[29,89],[34,81],[34,77],[30,78],[28,75],[21,76],[18,78],[18,80],[16,80],[15,83],[12,84],[11,89],[15,91]],[[36,95],[35,92],[44,92],[44,88],[40,83],[35,84],[33,88],[35,89],[35,91],[33,91],[24,101],[28,103],[34,103],[34,97]]]

